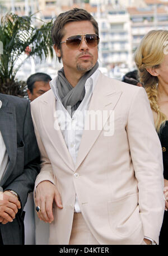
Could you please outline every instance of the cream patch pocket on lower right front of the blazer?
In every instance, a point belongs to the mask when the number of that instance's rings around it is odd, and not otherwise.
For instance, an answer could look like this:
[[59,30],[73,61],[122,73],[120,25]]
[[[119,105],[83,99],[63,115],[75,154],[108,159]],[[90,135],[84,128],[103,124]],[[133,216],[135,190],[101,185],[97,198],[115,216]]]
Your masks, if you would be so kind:
[[127,238],[142,226],[137,193],[108,202],[108,213],[111,230],[120,238]]

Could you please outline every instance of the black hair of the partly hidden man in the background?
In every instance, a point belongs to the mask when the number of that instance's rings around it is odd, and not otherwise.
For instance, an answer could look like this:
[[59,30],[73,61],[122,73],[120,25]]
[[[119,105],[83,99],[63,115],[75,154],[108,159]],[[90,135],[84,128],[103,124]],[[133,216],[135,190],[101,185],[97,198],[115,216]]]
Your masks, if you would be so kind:
[[51,81],[52,77],[50,77],[49,75],[45,74],[45,73],[35,73],[32,74],[30,77],[27,78],[27,87],[30,90],[31,94],[32,94],[32,90],[34,88],[34,83],[37,81],[44,81],[44,82],[48,82]]

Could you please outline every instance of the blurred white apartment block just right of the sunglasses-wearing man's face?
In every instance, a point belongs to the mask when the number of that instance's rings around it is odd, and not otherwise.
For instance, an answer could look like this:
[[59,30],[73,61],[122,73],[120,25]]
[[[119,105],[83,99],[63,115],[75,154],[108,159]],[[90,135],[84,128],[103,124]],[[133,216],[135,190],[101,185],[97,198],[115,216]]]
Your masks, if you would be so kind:
[[124,64],[131,68],[130,19],[125,10],[111,10],[97,18],[100,30],[100,61],[113,68]]

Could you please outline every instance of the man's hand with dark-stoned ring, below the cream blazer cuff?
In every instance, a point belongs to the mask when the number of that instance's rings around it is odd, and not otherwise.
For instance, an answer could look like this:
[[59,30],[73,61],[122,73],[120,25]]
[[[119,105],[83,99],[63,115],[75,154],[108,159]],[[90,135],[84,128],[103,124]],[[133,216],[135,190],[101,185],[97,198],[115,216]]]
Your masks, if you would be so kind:
[[53,201],[55,201],[58,208],[63,208],[58,189],[50,181],[44,180],[36,187],[35,204],[40,207],[40,212],[38,212],[40,220],[49,223],[54,220]]

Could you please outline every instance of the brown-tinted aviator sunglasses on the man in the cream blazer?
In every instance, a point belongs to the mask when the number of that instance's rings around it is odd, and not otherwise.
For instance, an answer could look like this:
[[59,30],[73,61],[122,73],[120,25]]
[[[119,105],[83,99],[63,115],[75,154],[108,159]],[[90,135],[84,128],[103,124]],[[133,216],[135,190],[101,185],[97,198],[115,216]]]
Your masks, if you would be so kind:
[[84,39],[90,47],[96,47],[100,40],[99,36],[96,34],[83,34],[70,36],[66,41],[60,42],[60,44],[66,43],[69,49],[74,50],[80,46],[82,39]]

